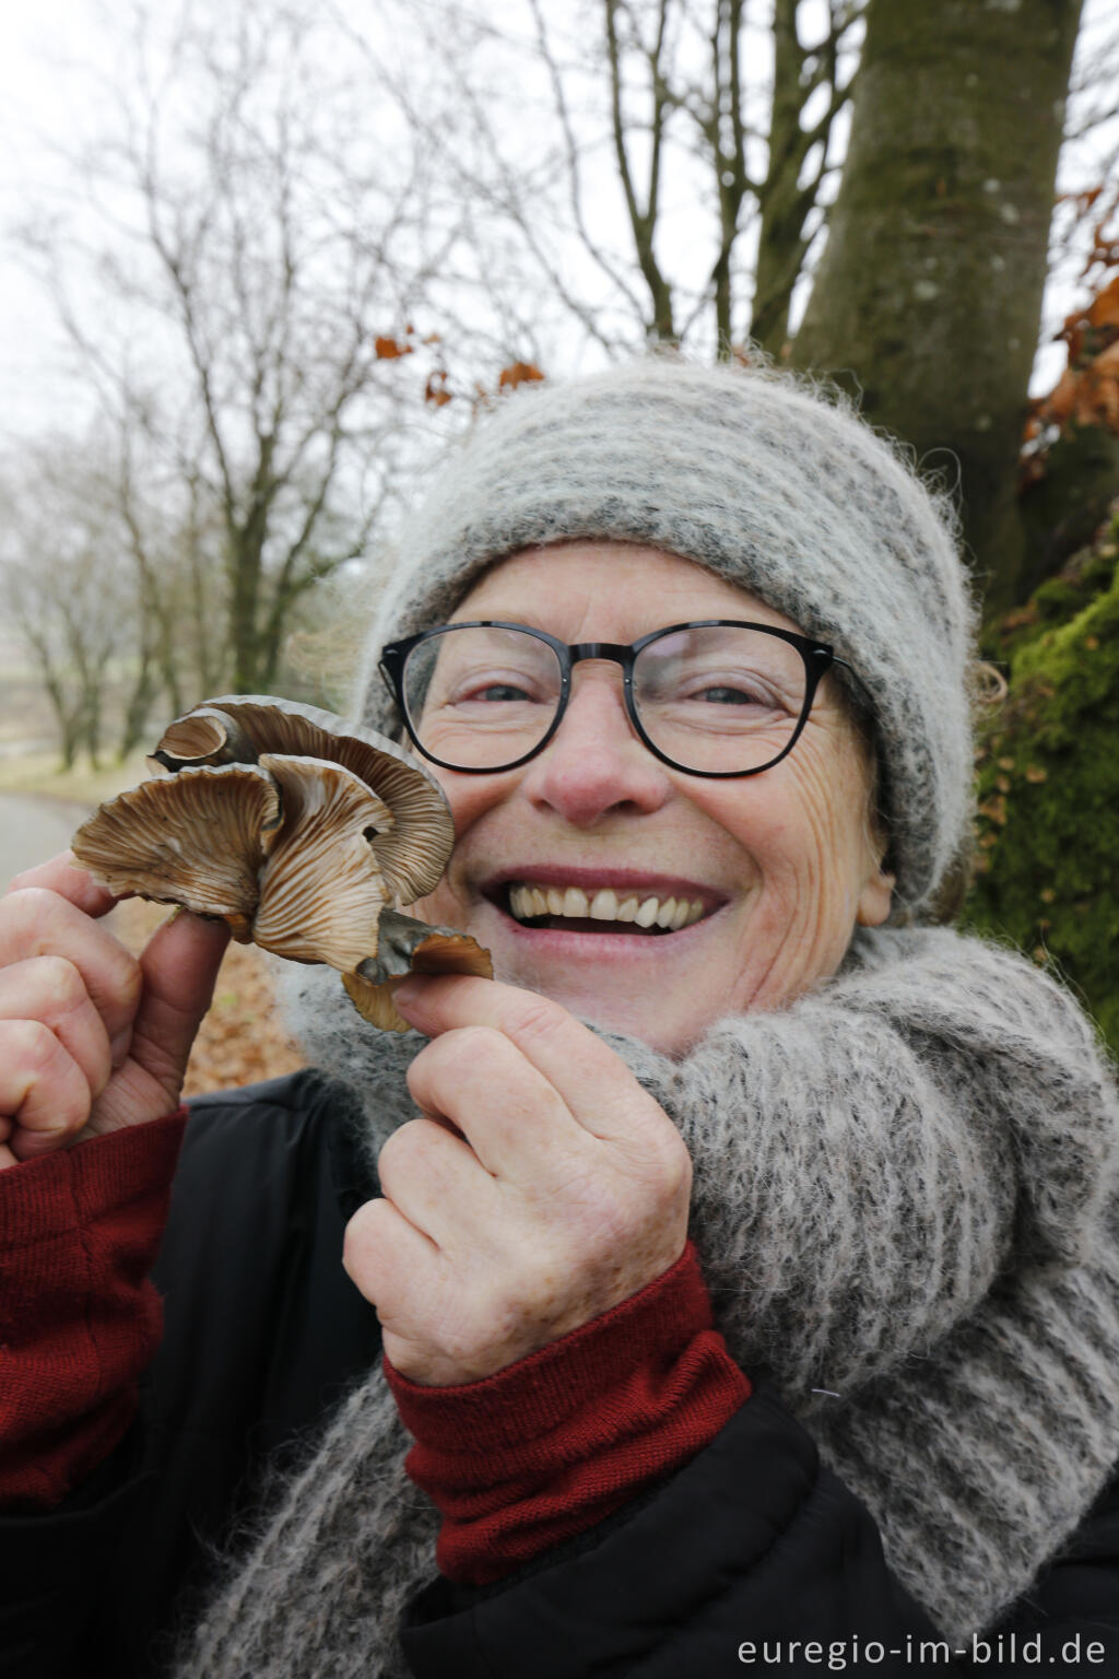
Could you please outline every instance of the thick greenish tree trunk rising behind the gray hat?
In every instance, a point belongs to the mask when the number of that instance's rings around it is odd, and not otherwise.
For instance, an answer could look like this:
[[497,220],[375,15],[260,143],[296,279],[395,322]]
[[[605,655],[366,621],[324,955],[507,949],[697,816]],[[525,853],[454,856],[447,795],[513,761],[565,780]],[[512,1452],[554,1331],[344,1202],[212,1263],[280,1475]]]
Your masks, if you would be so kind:
[[1017,460],[1080,0],[871,0],[794,344],[956,477],[988,611],[1023,593]]

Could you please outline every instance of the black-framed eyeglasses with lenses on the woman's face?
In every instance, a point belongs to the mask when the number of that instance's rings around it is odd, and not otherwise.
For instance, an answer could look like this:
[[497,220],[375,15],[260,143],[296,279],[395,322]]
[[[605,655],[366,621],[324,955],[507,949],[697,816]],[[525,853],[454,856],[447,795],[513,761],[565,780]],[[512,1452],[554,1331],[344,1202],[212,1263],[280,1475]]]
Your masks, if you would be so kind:
[[800,739],[822,677],[844,665],[824,641],[735,618],[668,625],[629,646],[567,646],[528,625],[476,620],[393,641],[381,675],[413,745],[443,769],[481,776],[544,751],[584,660],[621,665],[634,732],[688,776],[772,769]]

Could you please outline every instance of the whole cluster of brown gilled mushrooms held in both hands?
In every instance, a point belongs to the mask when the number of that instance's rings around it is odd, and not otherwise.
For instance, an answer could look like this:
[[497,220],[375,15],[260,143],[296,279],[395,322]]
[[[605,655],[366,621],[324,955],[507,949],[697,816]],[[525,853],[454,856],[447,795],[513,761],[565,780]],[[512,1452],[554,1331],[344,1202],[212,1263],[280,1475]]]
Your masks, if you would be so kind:
[[466,934],[401,903],[438,883],[455,826],[438,782],[393,740],[330,712],[233,693],[164,732],[154,779],[102,804],[74,856],[116,897],[181,903],[242,944],[325,962],[367,1021],[406,1031],[406,974],[493,974]]

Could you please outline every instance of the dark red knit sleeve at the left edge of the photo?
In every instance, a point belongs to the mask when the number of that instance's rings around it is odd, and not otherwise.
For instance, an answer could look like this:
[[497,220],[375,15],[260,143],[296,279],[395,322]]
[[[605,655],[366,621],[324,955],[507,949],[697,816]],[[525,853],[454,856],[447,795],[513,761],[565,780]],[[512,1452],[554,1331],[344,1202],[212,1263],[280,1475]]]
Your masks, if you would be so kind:
[[185,1123],[181,1108],[0,1172],[0,1508],[57,1504],[133,1420]]

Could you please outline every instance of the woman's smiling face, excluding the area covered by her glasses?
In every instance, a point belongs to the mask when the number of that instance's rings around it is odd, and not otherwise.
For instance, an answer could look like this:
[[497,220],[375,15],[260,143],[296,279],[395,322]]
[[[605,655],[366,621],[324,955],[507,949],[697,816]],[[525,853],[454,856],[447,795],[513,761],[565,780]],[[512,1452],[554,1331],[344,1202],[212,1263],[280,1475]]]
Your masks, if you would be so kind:
[[[565,643],[629,643],[698,618],[799,628],[691,561],[624,542],[515,554],[455,618]],[[837,970],[856,923],[889,915],[866,749],[830,678],[794,751],[758,776],[659,762],[612,663],[575,667],[564,722],[532,762],[433,772],[456,843],[416,913],[473,934],[498,979],[668,1054],[725,1014],[804,996]]]

